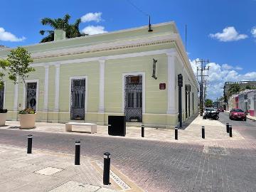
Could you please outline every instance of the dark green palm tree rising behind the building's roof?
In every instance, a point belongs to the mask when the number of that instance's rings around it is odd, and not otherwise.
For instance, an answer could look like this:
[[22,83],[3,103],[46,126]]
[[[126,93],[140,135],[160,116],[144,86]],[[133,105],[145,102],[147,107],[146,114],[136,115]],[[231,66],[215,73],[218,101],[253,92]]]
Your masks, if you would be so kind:
[[41,30],[41,35],[48,33],[48,36],[41,40],[41,43],[54,41],[54,30],[55,29],[62,29],[66,32],[67,38],[75,38],[80,36],[86,36],[85,33],[80,33],[79,25],[81,23],[81,19],[78,18],[75,23],[70,24],[68,21],[70,20],[71,16],[69,14],[65,14],[63,18],[43,18],[41,23],[43,26],[50,26],[53,30]]

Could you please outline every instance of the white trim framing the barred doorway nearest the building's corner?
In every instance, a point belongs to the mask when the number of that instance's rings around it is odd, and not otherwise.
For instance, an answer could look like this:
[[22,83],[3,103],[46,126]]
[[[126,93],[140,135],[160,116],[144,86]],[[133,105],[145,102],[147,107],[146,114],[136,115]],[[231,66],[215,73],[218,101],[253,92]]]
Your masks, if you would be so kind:
[[142,114],[145,113],[146,105],[146,91],[145,91],[145,72],[131,72],[131,73],[122,73],[122,113],[124,113],[124,78],[127,75],[142,75]]

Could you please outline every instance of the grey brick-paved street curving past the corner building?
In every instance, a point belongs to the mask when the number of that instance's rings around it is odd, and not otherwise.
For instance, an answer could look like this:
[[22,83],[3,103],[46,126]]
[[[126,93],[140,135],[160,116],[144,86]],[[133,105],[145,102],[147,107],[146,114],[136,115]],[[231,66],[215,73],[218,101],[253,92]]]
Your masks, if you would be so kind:
[[[225,115],[221,114],[220,121],[225,121]],[[224,127],[221,131],[214,121],[210,123],[220,135],[225,134]],[[144,191],[256,191],[253,123],[246,124],[250,137],[245,128],[234,124],[234,132],[238,131],[234,139],[225,135],[206,141],[161,142],[0,129],[0,143],[26,147],[26,135],[33,134],[35,148],[73,154],[75,139],[81,139],[82,155],[100,160],[103,152],[110,151],[112,164]]]

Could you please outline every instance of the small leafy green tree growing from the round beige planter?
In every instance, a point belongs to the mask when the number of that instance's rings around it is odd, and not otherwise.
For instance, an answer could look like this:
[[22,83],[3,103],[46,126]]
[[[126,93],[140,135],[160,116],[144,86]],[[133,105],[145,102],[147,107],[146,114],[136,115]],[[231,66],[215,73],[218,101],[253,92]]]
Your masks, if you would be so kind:
[[[35,69],[30,66],[31,63],[33,63],[33,59],[31,58],[31,54],[28,53],[28,50],[21,47],[11,50],[11,53],[4,62],[6,63],[5,69],[9,74],[9,79],[12,80],[14,84],[17,84],[19,81],[23,82],[25,90],[27,91],[26,79],[28,78],[28,73],[35,71]],[[27,92],[25,92],[25,95],[27,95]]]

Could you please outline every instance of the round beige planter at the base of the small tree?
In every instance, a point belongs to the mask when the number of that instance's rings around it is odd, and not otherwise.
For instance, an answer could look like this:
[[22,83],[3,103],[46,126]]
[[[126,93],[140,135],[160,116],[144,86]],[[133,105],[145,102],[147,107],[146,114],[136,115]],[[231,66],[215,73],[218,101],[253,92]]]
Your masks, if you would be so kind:
[[36,112],[31,108],[18,111],[18,118],[20,120],[20,129],[32,129],[36,123]]

